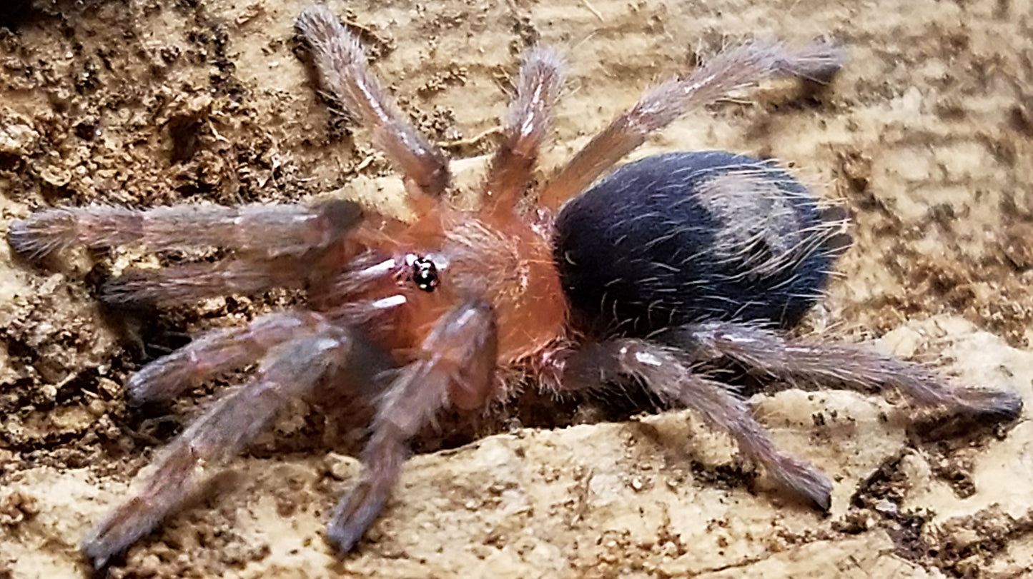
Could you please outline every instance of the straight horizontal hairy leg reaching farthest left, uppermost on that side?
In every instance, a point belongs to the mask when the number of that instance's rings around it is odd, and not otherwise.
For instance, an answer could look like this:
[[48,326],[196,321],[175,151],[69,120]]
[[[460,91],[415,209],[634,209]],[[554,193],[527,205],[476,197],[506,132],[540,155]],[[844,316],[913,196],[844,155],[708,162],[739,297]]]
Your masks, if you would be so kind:
[[108,205],[35,213],[10,224],[14,251],[38,258],[71,246],[143,244],[152,251],[191,248],[243,250],[268,257],[301,255],[340,239],[362,220],[358,205],[183,204],[147,211]]

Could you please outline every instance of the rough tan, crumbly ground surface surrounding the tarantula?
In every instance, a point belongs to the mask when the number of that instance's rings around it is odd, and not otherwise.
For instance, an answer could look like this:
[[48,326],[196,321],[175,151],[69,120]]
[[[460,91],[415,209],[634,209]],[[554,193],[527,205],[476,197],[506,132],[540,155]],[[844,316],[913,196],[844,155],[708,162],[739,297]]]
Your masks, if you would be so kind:
[[[0,233],[37,207],[335,194],[397,180],[325,111],[298,57],[294,0],[32,0],[0,8]],[[684,412],[598,421],[506,415],[431,435],[356,553],[323,543],[357,473],[353,442],[300,408],[215,492],[128,552],[115,577],[1024,577],[1033,566],[1033,5],[1030,0],[484,0],[331,3],[397,99],[483,164],[519,54],[569,79],[542,174],[653,82],[723,43],[829,36],[824,90],[776,85],[686,116],[638,155],[783,159],[855,215],[854,247],[808,322],[959,383],[1027,400],[1008,427],[950,431],[898,398],[752,398],[785,449],[835,481],[828,516],[744,471]],[[6,11],[6,13],[5,13]],[[171,412],[122,384],[204,328],[289,299],[157,317],[92,297],[132,252],[36,268],[0,244],[0,577],[80,577],[76,543],[214,389]],[[563,409],[561,409],[563,410]],[[567,409],[568,410],[568,409]],[[528,425],[565,427],[529,428]],[[503,427],[504,426],[504,427]],[[448,424],[445,423],[447,430]],[[947,430],[947,431],[944,431]],[[440,450],[440,449],[444,450]]]

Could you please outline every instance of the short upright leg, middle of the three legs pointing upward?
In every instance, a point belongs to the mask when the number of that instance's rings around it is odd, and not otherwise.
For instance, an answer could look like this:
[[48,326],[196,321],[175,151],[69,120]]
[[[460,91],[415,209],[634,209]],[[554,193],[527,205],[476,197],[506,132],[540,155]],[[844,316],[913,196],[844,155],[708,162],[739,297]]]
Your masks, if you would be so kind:
[[516,81],[516,97],[509,106],[505,139],[492,158],[484,183],[484,202],[492,211],[512,211],[527,188],[562,85],[556,53],[543,47],[528,53]]

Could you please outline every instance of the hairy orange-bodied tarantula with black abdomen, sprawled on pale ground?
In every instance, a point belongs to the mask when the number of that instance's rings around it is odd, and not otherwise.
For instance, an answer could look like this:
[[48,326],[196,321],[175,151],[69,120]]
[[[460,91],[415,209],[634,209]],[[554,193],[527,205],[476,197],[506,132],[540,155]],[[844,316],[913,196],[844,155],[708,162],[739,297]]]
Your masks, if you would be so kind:
[[112,303],[187,303],[273,287],[306,308],[206,333],[126,385],[131,403],[167,400],[258,361],[254,377],[189,425],[131,498],[83,543],[96,567],[156,528],[267,429],[295,397],[347,391],[375,408],[364,473],[326,537],[352,549],[384,507],[409,440],[447,407],[482,409],[511,394],[514,374],[554,392],[638,383],[697,411],[743,457],[821,509],[832,484],[779,451],[733,388],[698,372],[732,360],[776,379],[860,390],[897,387],[922,406],[1002,420],[1013,393],[945,385],[922,366],[864,347],[791,340],[817,300],[841,222],[770,162],[725,152],[620,159],[684,111],[778,76],[827,78],[843,54],[753,42],[648,92],[524,202],[562,85],[560,59],[536,47],[515,84],[502,142],[475,211],[448,201],[442,152],[384,98],[357,39],[324,6],[298,31],[328,96],[401,171],[411,222],[364,215],[343,200],[241,207],[174,205],[42,211],[10,226],[36,258],[71,245],[144,244],[156,252],[221,248],[215,263],[131,270],[109,280]]

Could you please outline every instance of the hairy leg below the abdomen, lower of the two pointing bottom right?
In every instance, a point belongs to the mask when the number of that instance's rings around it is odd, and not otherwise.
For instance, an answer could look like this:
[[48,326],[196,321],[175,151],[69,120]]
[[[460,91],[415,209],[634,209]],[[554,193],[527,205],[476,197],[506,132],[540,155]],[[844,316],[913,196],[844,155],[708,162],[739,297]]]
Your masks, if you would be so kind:
[[680,350],[635,339],[589,344],[567,359],[563,387],[604,388],[622,378],[637,378],[666,403],[698,412],[711,427],[731,436],[747,460],[762,467],[782,486],[828,510],[828,479],[810,463],[775,448],[746,403],[726,385],[693,373]]

